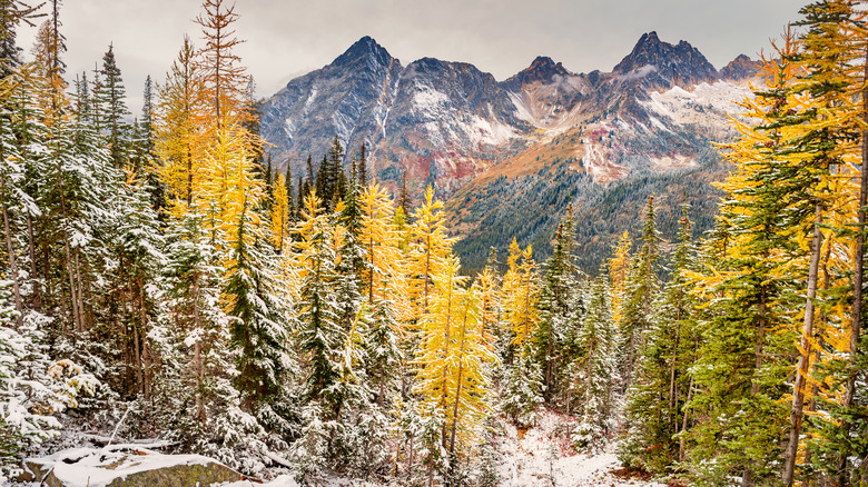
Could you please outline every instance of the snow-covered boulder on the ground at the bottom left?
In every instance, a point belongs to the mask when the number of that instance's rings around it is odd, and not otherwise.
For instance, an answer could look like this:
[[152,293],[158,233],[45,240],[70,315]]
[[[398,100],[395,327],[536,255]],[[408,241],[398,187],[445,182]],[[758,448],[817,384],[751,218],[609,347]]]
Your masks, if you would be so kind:
[[200,455],[164,455],[117,445],[76,448],[24,461],[22,480],[49,487],[196,487],[241,480],[241,475]]

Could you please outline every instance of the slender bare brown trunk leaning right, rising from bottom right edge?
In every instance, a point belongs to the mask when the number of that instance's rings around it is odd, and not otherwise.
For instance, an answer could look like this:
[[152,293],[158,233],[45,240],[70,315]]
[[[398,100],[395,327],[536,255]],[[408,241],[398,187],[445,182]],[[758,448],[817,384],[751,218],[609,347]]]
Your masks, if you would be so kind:
[[783,453],[783,474],[781,479],[787,487],[792,486],[796,474],[796,455],[799,450],[799,434],[801,420],[805,415],[805,384],[807,382],[808,368],[811,357],[811,337],[813,336],[813,300],[817,298],[817,278],[820,267],[820,254],[822,251],[822,208],[818,203],[815,208],[813,239],[811,240],[811,260],[808,267],[808,297],[805,302],[805,321],[801,327],[801,352],[796,368],[796,380],[792,385],[792,408],[790,410],[790,433],[787,448]]

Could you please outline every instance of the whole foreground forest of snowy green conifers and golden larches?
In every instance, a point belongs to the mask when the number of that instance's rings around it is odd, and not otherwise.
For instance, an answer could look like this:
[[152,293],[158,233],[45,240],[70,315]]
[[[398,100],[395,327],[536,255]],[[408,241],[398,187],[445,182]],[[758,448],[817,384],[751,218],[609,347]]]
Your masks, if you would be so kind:
[[665,235],[652,196],[589,258],[575,202],[549,255],[511,239],[473,272],[437,190],[384,183],[364,143],[273,163],[228,0],[140,111],[111,44],[67,71],[68,9],[0,0],[0,484],[124,444],[268,485],[525,485],[505,438],[548,424],[545,473],[868,486],[862,2],[772,41],[716,213],[669,208]]

